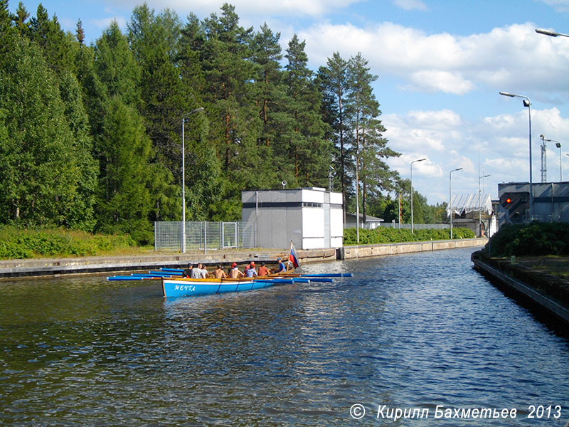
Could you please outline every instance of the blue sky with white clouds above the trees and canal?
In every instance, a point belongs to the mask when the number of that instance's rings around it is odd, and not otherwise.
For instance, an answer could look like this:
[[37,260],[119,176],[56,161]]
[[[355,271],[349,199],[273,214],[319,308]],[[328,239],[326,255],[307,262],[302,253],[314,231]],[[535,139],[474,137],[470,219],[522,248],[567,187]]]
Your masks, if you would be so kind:
[[[24,1],[35,15],[38,1]],[[156,12],[168,7],[182,21],[218,13],[223,1],[150,0]],[[390,166],[409,177],[430,204],[452,192],[477,193],[479,184],[497,197],[497,184],[528,181],[528,108],[531,99],[533,181],[541,181],[541,139],[558,140],[563,181],[569,181],[569,38],[548,37],[536,28],[569,33],[569,0],[234,0],[243,26],[267,22],[286,48],[294,33],[307,42],[309,65],[317,70],[338,51],[361,52],[378,75],[375,94],[391,148],[402,155]],[[269,4],[270,3],[270,4]],[[50,16],[75,32],[83,22],[95,42],[110,20],[122,28],[139,1],[47,0]],[[9,7],[16,9],[11,0]],[[560,180],[560,150],[546,144],[547,180]],[[485,179],[482,175],[489,174]]]

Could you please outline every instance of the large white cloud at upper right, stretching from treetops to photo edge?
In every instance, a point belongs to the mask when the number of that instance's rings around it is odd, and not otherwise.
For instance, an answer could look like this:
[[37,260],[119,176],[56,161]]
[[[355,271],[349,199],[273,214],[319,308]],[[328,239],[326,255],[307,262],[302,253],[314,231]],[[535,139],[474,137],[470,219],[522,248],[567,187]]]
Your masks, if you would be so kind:
[[[361,51],[373,73],[393,75],[408,90],[464,95],[474,90],[527,88],[538,96],[569,97],[569,43],[540,36],[533,23],[494,28],[489,33],[427,34],[383,22],[361,28],[351,23],[317,23],[300,31],[316,65],[332,52],[350,58]],[[528,72],[531,70],[531,72]]]

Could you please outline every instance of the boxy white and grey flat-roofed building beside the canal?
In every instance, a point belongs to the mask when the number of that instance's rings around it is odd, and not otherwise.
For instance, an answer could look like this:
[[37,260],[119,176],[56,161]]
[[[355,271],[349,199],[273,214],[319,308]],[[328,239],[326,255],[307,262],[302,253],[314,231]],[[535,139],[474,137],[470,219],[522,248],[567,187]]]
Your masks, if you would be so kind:
[[[250,247],[298,249],[343,246],[342,195],[318,187],[241,191],[241,219]],[[252,228],[252,232],[251,232]]]

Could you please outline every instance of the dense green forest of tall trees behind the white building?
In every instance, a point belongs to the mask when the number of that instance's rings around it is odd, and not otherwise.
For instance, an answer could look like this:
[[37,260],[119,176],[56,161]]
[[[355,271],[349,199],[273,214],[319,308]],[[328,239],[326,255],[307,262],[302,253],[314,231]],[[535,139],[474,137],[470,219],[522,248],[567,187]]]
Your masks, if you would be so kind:
[[[0,0],[0,224],[129,233],[153,221],[240,218],[240,191],[328,187],[345,209],[410,217],[409,181],[388,147],[361,53],[308,68],[305,42],[285,51],[266,24],[240,26],[234,6],[200,20],[137,6],[85,44],[40,4]],[[356,176],[358,179],[356,180]],[[415,194],[414,218],[444,206]],[[408,221],[408,219],[407,219]]]

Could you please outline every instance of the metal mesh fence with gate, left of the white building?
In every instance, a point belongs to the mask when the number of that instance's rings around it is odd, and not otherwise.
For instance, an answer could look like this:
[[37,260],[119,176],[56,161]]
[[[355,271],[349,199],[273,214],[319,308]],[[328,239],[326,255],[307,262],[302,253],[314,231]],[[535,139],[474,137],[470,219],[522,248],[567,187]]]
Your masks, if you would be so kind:
[[[183,221],[154,222],[154,250],[181,251]],[[255,224],[186,221],[186,251],[255,248]]]

